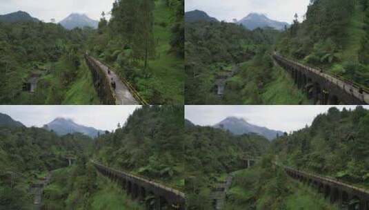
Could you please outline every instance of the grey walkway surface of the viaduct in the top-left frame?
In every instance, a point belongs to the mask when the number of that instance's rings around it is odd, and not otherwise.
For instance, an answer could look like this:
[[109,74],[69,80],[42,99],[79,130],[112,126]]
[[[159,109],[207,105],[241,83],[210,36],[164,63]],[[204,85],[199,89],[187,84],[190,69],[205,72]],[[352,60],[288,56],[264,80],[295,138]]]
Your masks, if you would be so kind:
[[118,105],[137,105],[139,102],[133,97],[132,93],[130,92],[130,89],[124,84],[121,79],[117,76],[116,73],[112,69],[110,69],[110,75],[108,74],[108,66],[105,64],[102,64],[97,59],[94,59],[93,57],[90,57],[92,61],[103,70],[103,73],[105,73],[106,77],[111,82],[111,78],[114,80],[116,84],[116,88],[112,88],[112,91],[114,91],[114,97],[116,100],[116,104]]

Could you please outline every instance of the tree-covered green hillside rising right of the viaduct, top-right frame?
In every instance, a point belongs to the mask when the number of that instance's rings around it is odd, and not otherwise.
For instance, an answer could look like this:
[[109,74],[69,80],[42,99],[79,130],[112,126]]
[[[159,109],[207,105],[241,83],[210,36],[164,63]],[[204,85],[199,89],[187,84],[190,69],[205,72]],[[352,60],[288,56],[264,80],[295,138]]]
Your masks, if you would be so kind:
[[[306,19],[277,43],[279,53],[368,85],[367,1],[311,1]],[[339,68],[343,66],[343,68]]]

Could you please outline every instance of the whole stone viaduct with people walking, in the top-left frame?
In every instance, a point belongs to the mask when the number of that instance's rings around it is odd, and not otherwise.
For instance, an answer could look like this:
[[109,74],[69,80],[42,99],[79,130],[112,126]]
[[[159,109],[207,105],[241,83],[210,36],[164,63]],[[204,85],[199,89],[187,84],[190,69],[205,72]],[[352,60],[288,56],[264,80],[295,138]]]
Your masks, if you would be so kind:
[[94,59],[88,53],[85,54],[85,60],[91,71],[97,95],[103,104],[148,105],[137,90],[126,79],[121,79],[110,66]]

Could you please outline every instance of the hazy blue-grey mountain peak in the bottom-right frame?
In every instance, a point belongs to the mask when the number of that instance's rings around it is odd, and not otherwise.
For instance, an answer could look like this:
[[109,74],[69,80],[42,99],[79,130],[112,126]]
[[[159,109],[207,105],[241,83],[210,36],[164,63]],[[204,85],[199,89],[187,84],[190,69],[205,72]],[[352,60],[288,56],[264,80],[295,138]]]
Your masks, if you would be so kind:
[[246,122],[246,120],[243,120],[242,118],[237,117],[227,117],[225,120],[215,124],[213,127],[228,130],[235,135],[257,133],[263,137],[266,137],[268,140],[275,139],[277,135],[283,135],[282,131],[275,131],[266,127],[256,126]]

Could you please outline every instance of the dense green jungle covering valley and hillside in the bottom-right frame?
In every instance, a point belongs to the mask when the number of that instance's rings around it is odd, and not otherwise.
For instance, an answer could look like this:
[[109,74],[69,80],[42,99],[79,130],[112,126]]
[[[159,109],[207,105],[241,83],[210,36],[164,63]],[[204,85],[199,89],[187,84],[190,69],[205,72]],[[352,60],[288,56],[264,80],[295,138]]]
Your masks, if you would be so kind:
[[[358,209],[359,200],[331,203],[318,189],[292,179],[283,167],[369,189],[368,120],[369,111],[362,106],[342,111],[332,107],[311,126],[271,142],[187,123],[188,209],[215,209],[219,203],[221,209]],[[256,162],[247,167],[246,159]],[[219,197],[219,183],[230,177],[232,182]]]

